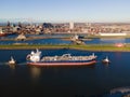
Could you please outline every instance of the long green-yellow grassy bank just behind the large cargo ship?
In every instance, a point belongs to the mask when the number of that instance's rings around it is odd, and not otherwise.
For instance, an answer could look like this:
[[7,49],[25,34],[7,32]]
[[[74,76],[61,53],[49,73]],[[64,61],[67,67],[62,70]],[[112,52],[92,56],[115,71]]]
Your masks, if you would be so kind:
[[74,48],[86,51],[99,51],[99,52],[130,52],[130,44],[117,47],[114,44],[87,44],[87,45],[74,45],[74,44],[15,44],[15,45],[0,45],[0,50],[34,50],[34,48]]

